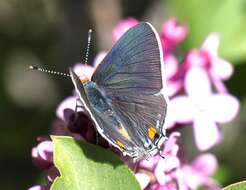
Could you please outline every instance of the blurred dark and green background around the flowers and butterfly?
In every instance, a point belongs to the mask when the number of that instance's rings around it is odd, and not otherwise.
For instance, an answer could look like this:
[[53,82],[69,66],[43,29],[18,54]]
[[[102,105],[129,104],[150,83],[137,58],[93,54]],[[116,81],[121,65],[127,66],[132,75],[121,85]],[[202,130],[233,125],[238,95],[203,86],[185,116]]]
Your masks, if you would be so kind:
[[[216,178],[223,185],[246,178],[245,0],[0,0],[0,189],[40,183],[31,148],[37,136],[49,134],[57,105],[73,89],[70,80],[31,72],[28,65],[66,72],[84,57],[89,28],[91,63],[98,51],[112,46],[113,27],[129,16],[157,29],[178,17],[190,30],[184,52],[199,47],[209,32],[220,33],[220,55],[235,65],[226,85],[240,99],[241,111],[222,128],[224,141],[212,150],[221,165]],[[187,146],[191,138],[188,131]]]

